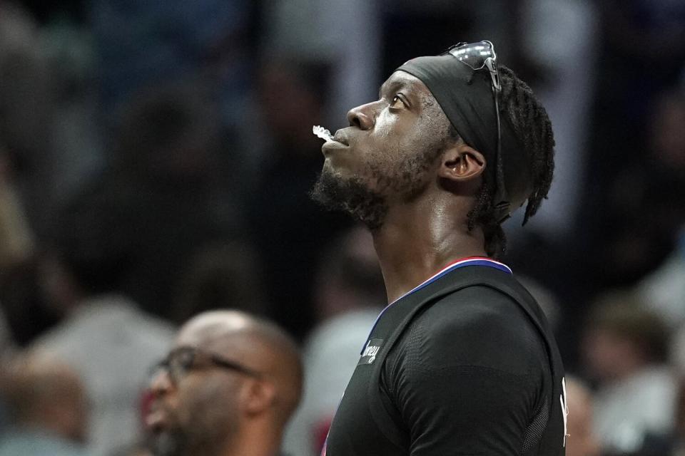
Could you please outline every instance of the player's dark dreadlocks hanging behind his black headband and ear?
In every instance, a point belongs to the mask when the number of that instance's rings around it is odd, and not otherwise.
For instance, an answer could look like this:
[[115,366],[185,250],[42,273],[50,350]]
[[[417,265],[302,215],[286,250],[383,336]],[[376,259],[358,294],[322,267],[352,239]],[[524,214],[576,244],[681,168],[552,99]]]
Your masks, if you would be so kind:
[[[507,115],[514,134],[532,163],[533,190],[526,205],[523,221],[525,224],[537,212],[542,199],[547,198],[549,186],[552,185],[554,172],[552,123],[549,122],[547,111],[535,98],[531,88],[517,78],[512,70],[506,66],[499,66],[499,81],[502,84],[502,92],[499,93],[500,114]],[[455,134],[457,134],[456,130],[451,133],[451,135]],[[468,229],[471,231],[475,226],[480,226],[485,237],[485,251],[490,257],[497,258],[507,248],[507,237],[495,216],[494,205],[497,203],[493,201],[495,190],[496,184],[489,182],[488,175],[484,175],[476,203],[468,214]]]

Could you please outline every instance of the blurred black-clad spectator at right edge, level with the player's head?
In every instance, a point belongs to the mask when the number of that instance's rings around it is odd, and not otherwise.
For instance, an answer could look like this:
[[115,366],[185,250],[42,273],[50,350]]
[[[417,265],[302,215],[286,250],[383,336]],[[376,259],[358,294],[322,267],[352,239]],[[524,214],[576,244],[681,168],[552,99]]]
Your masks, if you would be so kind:
[[652,108],[646,153],[616,173],[605,195],[603,216],[613,232],[598,254],[612,281],[630,283],[653,270],[685,224],[685,92],[669,90]]

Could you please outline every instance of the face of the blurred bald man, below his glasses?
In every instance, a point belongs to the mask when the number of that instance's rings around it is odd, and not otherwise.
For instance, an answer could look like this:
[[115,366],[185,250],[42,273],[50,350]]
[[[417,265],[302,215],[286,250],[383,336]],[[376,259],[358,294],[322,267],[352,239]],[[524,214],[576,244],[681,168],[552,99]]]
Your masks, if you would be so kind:
[[[213,347],[184,340],[178,347]],[[172,352],[173,353],[173,352]],[[240,373],[198,361],[178,375],[161,369],[150,386],[151,405],[146,416],[151,447],[156,456],[213,454],[238,431]]]

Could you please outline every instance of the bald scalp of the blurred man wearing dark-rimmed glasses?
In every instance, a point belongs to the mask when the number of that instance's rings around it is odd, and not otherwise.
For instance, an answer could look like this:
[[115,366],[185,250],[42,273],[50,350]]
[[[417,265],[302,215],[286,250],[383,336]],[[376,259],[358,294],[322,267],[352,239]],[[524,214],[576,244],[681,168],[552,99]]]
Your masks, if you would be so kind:
[[275,387],[274,406],[283,423],[300,401],[298,347],[270,321],[240,311],[205,312],[183,325],[175,345],[201,348],[263,374]]

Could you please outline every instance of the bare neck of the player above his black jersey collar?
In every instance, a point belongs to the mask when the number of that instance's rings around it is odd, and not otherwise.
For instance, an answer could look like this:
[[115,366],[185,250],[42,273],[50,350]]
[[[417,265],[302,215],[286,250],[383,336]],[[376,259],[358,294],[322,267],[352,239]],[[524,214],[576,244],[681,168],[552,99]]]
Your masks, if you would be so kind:
[[486,256],[482,230],[467,229],[467,211],[457,204],[454,199],[422,199],[392,207],[382,227],[373,232],[388,302],[450,261]]

